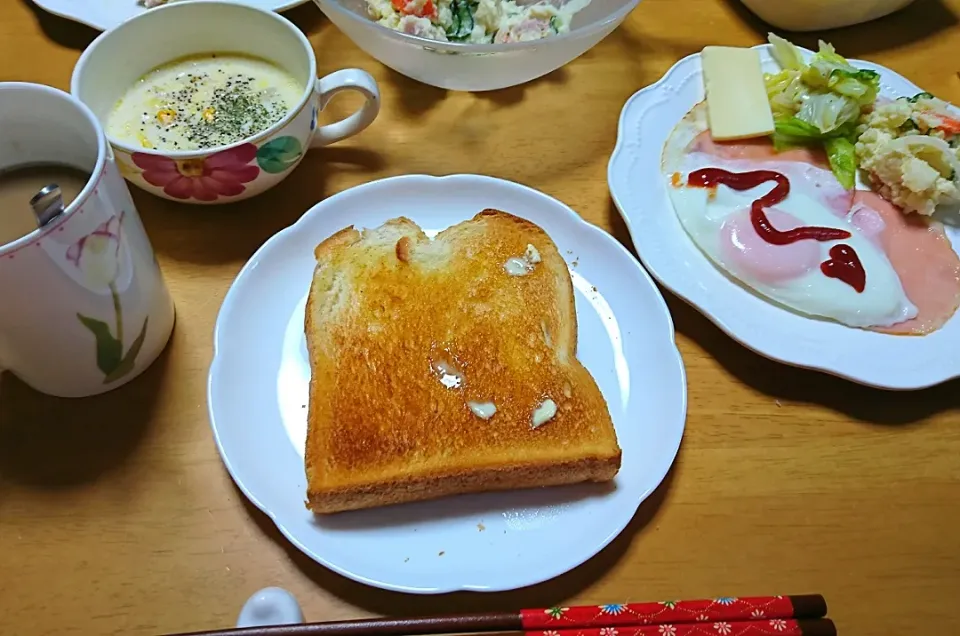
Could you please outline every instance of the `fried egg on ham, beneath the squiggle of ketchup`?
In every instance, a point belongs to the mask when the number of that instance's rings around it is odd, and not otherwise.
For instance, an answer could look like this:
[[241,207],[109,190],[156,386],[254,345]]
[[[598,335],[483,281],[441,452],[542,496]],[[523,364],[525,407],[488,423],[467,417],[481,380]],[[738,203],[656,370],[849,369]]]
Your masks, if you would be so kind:
[[[840,186],[828,167],[787,153],[773,155],[769,148],[766,160],[754,156],[759,153],[750,152],[749,146],[739,153],[714,152],[711,143],[698,143],[702,135],[709,136],[703,111],[695,108],[681,121],[664,150],[663,164],[677,217],[701,252],[747,288],[801,314],[862,328],[889,327],[917,315],[878,238],[882,219],[858,213],[860,208],[852,207],[853,193]],[[764,209],[774,228],[835,228],[850,237],[769,243],[754,229],[750,208],[774,183],[743,191],[722,184],[688,186],[690,173],[702,168],[778,172],[789,180],[790,192]],[[862,291],[821,269],[831,259],[831,248],[839,244],[853,248],[859,258],[866,274]]]

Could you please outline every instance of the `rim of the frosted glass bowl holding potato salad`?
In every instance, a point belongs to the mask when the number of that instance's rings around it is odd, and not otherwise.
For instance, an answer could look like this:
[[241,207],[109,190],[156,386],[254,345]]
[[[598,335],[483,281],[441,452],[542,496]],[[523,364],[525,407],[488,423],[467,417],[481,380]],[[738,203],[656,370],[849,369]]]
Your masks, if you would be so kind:
[[338,0],[313,0],[317,6],[324,12],[328,9],[335,11],[339,15],[342,15],[348,20],[353,20],[357,24],[362,24],[364,26],[372,26],[375,30],[380,31],[385,37],[391,38],[398,42],[404,42],[406,44],[415,44],[424,49],[431,51],[441,51],[444,53],[458,53],[460,55],[490,55],[493,53],[507,53],[510,51],[522,51],[526,49],[536,49],[541,46],[544,46],[547,42],[561,42],[565,40],[575,40],[582,37],[587,37],[593,35],[598,31],[603,30],[604,27],[608,26],[611,23],[622,22],[624,18],[627,17],[631,11],[633,11],[640,0],[627,0],[627,3],[622,7],[608,15],[606,18],[591,22],[585,26],[579,27],[577,29],[571,30],[567,33],[558,34],[550,36],[548,38],[542,38],[539,40],[530,40],[528,42],[505,42],[500,44],[468,44],[465,42],[444,42],[441,40],[431,40],[430,38],[421,37],[419,35],[410,35],[409,33],[402,33],[400,31],[395,31],[389,27],[385,27],[382,24],[378,24],[374,20],[365,18],[358,13],[347,9],[342,6]]

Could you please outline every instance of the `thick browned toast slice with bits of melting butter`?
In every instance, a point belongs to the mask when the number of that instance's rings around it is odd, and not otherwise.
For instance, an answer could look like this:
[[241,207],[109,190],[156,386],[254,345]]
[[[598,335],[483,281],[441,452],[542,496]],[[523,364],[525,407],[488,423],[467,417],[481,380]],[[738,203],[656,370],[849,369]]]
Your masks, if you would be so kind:
[[315,254],[310,510],[616,475],[610,413],[576,357],[570,272],[540,227],[484,210],[431,240],[397,218]]

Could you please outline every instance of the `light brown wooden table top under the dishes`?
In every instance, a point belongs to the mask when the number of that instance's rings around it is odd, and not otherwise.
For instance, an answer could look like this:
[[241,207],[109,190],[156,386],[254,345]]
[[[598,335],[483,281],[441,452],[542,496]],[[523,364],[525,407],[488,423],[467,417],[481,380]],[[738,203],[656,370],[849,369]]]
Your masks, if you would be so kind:
[[[829,39],[958,103],[958,14],[960,0],[921,0]],[[267,585],[293,591],[313,620],[814,591],[844,634],[960,633],[960,382],[884,393],[782,367],[669,294],[689,380],[683,448],[628,531],[586,565],[516,593],[411,597],[343,579],[287,543],[234,487],[206,411],[214,320],[260,244],[371,179],[475,172],[554,195],[629,245],[606,185],[624,101],[704,45],[766,32],[732,0],[646,0],[566,68],[471,95],[386,69],[313,5],[288,15],[321,74],[376,76],[383,112],[249,202],[201,210],[135,193],[177,304],[174,337],[144,376],[97,398],[3,378],[0,634],[225,627]],[[2,2],[0,78],[67,89],[94,36],[28,0]],[[355,106],[342,98],[329,116]]]

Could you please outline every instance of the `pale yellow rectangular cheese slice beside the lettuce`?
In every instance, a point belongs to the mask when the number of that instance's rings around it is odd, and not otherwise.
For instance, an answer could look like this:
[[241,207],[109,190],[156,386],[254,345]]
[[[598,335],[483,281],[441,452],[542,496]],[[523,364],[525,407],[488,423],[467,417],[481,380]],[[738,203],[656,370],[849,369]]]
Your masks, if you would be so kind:
[[771,134],[773,113],[763,84],[760,54],[754,49],[708,46],[700,61],[710,135],[724,141]]

